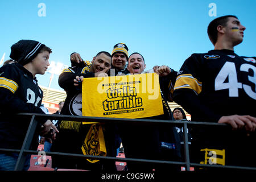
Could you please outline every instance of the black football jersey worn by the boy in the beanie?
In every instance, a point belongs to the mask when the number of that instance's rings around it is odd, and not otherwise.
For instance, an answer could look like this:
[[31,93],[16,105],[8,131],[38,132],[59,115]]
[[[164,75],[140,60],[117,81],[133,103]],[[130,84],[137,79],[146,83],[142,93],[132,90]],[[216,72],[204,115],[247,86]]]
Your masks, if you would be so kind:
[[[43,91],[36,78],[22,65],[13,63],[0,68],[0,148],[21,147],[30,119],[14,118],[13,114],[44,114],[39,107],[42,99]],[[43,124],[46,119],[39,122]]]

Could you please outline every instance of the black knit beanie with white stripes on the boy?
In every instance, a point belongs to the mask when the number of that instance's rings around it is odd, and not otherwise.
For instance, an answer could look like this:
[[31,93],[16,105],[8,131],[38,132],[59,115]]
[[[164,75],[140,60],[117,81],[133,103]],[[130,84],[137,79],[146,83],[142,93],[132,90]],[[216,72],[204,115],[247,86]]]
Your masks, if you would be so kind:
[[25,65],[32,61],[46,45],[35,40],[19,40],[19,42],[11,46],[11,59],[17,61],[21,65]]

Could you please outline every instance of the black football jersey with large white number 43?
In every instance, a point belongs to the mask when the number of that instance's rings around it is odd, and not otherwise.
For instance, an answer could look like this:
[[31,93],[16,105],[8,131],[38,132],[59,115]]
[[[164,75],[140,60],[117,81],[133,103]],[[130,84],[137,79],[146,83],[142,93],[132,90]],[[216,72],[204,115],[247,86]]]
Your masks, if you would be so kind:
[[[216,115],[255,117],[255,60],[255,57],[238,56],[228,49],[194,53],[177,73],[174,97],[193,92],[200,105]],[[194,121],[200,120],[200,111],[193,108],[188,110]],[[208,118],[204,119],[207,121]]]

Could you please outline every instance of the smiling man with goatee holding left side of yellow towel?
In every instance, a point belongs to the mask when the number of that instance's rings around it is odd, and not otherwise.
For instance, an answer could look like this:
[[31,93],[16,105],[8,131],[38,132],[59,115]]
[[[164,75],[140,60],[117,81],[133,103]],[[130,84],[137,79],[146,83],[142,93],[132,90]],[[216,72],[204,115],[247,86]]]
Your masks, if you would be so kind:
[[[81,83],[83,78],[89,77],[106,77],[108,76],[107,72],[111,68],[112,57],[109,52],[101,51],[93,57],[92,62],[85,61],[84,67],[69,67],[64,69],[59,77],[59,85],[67,92],[67,98],[65,100],[63,109],[60,114],[67,115],[82,115],[82,93],[81,93]],[[90,97],[90,96],[88,96]],[[92,98],[93,99],[93,98]],[[96,124],[93,124],[95,127],[93,129],[99,129]],[[106,152],[108,156],[115,156],[116,149],[112,151],[114,139],[110,139],[113,133],[106,129],[108,126],[102,126],[103,135],[105,142],[103,141]],[[59,129],[61,134],[56,136],[55,143],[52,145],[52,151],[56,152],[67,152],[75,154],[84,154],[81,147],[88,145],[90,149],[86,149],[86,152],[97,152],[94,151],[92,147],[93,142],[97,144],[96,140],[84,140],[86,136],[92,132],[92,124],[82,125],[81,122],[75,121],[61,121],[59,123]],[[98,130],[97,130],[98,131]],[[91,136],[93,137],[93,136]],[[89,143],[88,143],[89,142]],[[95,143],[96,142],[96,143]],[[98,142],[100,143],[100,142]],[[102,144],[102,143],[101,143]],[[88,147],[88,148],[89,148]],[[88,154],[90,155],[90,154]],[[101,154],[98,154],[101,155]],[[105,161],[92,162],[86,159],[75,160],[73,158],[64,159],[62,156],[53,157],[54,162],[52,165],[57,168],[73,168],[73,169],[89,169],[89,170],[101,170],[102,168],[109,168],[115,170],[115,163]],[[102,167],[103,166],[103,167]],[[108,166],[108,167],[106,167]]]

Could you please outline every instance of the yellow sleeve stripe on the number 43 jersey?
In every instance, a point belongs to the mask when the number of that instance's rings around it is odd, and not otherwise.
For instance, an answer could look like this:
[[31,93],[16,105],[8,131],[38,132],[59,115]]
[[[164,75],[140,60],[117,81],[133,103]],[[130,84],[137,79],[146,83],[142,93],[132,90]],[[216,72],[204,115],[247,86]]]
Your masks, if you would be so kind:
[[195,90],[195,92],[199,94],[202,91],[202,82],[198,81],[190,74],[180,75],[176,79],[174,90],[184,88]]

